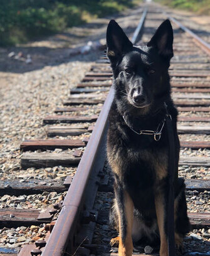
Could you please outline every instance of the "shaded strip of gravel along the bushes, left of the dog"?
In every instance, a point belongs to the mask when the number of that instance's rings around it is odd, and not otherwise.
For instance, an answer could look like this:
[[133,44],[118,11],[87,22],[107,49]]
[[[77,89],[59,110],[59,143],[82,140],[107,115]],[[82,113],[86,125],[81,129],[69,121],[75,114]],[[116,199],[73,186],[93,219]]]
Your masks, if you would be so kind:
[[[129,16],[129,20],[140,19],[142,8],[137,9],[135,14]],[[11,46],[0,48],[0,72],[25,73],[33,70],[40,70],[45,66],[57,66],[71,61],[95,61],[93,58],[85,58],[85,55],[70,55],[71,47],[87,45],[88,41],[105,39],[107,24],[110,19],[118,19],[125,23],[126,14],[116,14],[102,18],[99,21],[84,24],[80,27],[70,29],[64,33],[59,33],[41,41],[34,41],[23,46]],[[135,26],[130,27],[125,24],[125,33],[134,33]],[[100,51],[102,52],[102,51]],[[99,50],[95,53],[100,55]]]

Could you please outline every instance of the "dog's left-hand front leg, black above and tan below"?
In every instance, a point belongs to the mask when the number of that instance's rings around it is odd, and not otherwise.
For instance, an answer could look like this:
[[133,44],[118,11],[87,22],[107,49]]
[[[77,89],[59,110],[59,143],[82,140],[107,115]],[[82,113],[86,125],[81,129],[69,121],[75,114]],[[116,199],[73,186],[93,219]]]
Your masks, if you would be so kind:
[[118,221],[120,240],[118,247],[119,256],[131,256],[133,252],[132,225],[134,218],[134,203],[122,184],[115,185],[115,197],[118,208]]

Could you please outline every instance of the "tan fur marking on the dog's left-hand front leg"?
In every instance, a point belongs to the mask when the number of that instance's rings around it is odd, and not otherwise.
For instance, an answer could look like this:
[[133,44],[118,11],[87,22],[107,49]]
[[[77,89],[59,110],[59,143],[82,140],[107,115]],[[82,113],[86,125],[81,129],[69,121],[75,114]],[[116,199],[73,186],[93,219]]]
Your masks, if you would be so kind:
[[132,242],[132,225],[134,219],[134,203],[131,200],[129,194],[124,192],[124,209],[125,209],[125,220],[127,223],[125,238],[122,240],[123,233],[123,222],[120,218],[119,214],[119,227],[120,227],[120,240],[119,240],[119,248],[118,255],[119,256],[131,256],[133,252],[133,242]]

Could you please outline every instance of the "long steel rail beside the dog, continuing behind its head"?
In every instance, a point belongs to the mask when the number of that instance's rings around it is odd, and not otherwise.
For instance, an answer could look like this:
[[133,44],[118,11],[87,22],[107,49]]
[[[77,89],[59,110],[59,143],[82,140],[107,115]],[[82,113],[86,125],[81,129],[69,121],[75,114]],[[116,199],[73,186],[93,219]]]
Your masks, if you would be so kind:
[[[137,38],[139,38],[139,33],[144,26],[146,14],[147,9],[144,10],[139,26],[137,26],[134,32],[135,36],[132,38],[132,43],[135,43]],[[76,221],[80,215],[82,202],[84,201],[85,192],[87,190],[88,179],[92,173],[92,167],[96,161],[97,152],[100,151],[100,142],[103,136],[105,136],[108,113],[113,98],[114,90],[111,87],[42,256],[61,256],[66,253],[67,247],[68,251],[71,251],[73,248],[73,235],[76,229]]]

